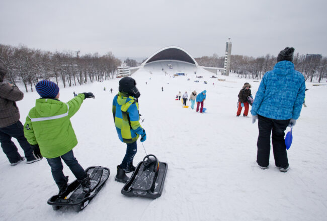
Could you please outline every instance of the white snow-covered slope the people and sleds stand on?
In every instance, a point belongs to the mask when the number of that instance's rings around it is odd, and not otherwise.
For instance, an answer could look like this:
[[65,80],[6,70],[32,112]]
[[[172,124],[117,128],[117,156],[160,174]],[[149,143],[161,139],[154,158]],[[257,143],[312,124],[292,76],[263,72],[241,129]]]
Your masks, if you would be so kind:
[[[290,170],[282,173],[275,167],[272,151],[269,169],[258,167],[258,124],[252,124],[251,114],[250,118],[235,117],[237,94],[244,82],[252,85],[253,95],[260,82],[233,74],[218,74],[226,81],[210,78],[212,73],[198,75],[204,76],[199,83],[194,82],[193,73],[175,78],[161,71],[132,75],[141,92],[139,112],[145,119],[146,152],[169,165],[161,197],[126,197],[121,194],[123,184],[114,180],[116,166],[126,151],[111,113],[118,91],[116,78],[60,88],[59,99],[65,102],[73,97],[73,91],[96,96],[84,101],[71,123],[78,140],[73,151],[81,166],[101,165],[111,170],[99,194],[78,213],[53,211],[47,200],[58,189],[47,161],[30,165],[24,161],[12,167],[1,153],[0,220],[326,220],[327,85],[306,83],[307,107],[302,108],[293,128],[293,144],[288,150]],[[204,80],[208,84],[203,84]],[[190,95],[193,90],[204,89],[205,114],[182,108],[181,101],[175,100],[179,91]],[[29,92],[17,102],[23,124],[38,97],[36,92]],[[134,165],[145,156],[142,144],[138,141],[137,145]],[[64,173],[69,175],[68,182],[75,179],[66,165]]]

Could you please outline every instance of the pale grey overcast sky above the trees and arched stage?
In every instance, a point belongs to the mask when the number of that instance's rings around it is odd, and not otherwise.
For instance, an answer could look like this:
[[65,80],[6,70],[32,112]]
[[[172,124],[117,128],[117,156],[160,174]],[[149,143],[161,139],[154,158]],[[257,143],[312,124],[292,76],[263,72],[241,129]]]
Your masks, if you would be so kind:
[[327,56],[327,1],[0,0],[0,44],[48,51],[148,57],[175,45],[194,57]]

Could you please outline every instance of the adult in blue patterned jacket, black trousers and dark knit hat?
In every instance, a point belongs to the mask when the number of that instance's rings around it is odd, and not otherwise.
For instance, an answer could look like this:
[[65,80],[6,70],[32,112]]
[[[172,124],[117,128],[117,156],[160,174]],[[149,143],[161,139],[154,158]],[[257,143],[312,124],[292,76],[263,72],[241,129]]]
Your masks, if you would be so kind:
[[271,131],[275,165],[282,172],[289,169],[284,131],[296,124],[305,96],[305,80],[294,70],[293,53],[294,48],[287,47],[278,54],[277,64],[263,76],[252,105],[252,122],[258,119],[257,163],[261,169],[269,165]]

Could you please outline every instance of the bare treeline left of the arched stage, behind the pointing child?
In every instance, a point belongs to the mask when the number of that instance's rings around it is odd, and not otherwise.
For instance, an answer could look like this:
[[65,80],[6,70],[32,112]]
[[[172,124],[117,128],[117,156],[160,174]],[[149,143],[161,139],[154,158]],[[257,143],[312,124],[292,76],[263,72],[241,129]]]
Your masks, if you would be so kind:
[[64,87],[111,79],[120,63],[111,52],[103,56],[98,53],[78,56],[74,52],[53,53],[0,44],[0,64],[7,69],[7,78],[14,85],[21,80],[26,92],[29,86],[33,91],[33,86],[42,79],[55,78],[57,84],[61,80]]

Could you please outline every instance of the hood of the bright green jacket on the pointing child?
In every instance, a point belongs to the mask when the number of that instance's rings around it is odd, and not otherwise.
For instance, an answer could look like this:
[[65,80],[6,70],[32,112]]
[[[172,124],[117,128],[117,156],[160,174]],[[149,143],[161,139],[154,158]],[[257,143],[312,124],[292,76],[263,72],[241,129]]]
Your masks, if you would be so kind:
[[40,98],[35,101],[35,110],[42,117],[57,116],[67,111],[62,108],[63,105],[67,104],[57,99]]

